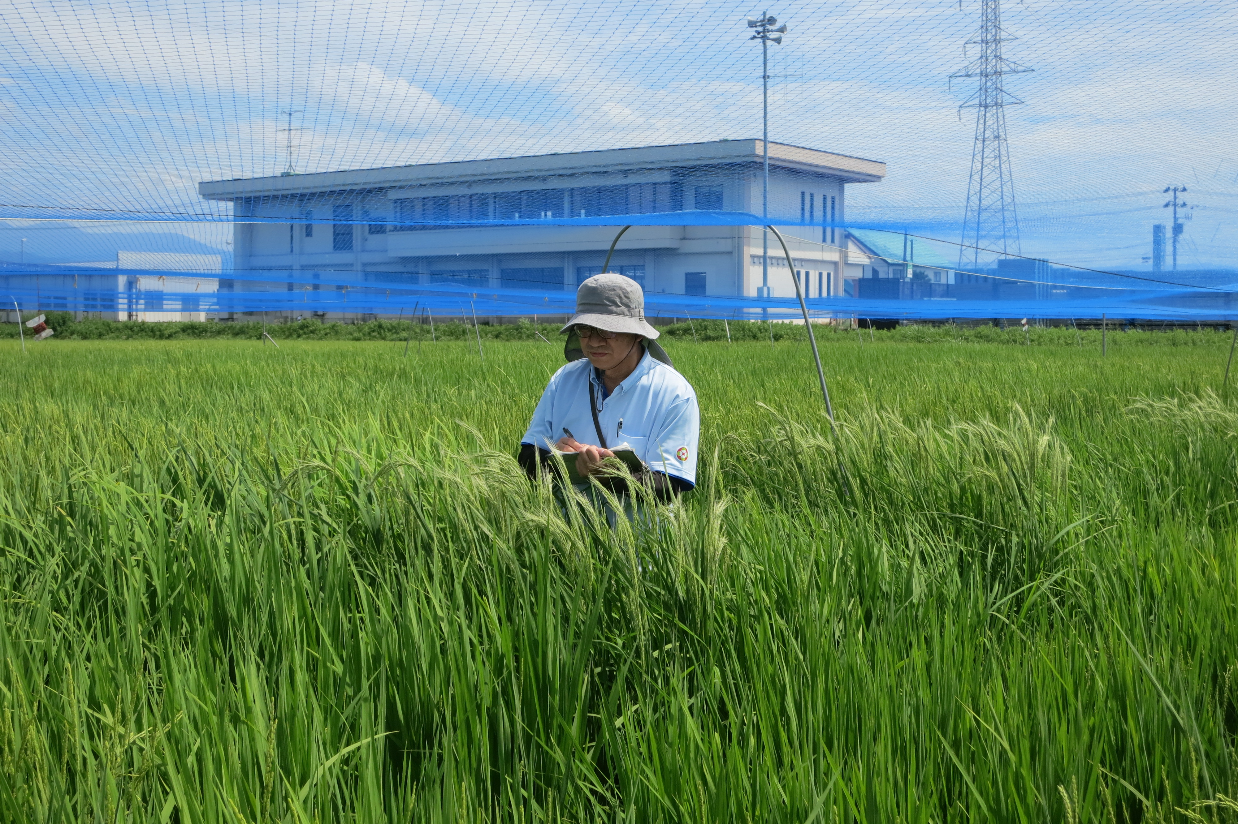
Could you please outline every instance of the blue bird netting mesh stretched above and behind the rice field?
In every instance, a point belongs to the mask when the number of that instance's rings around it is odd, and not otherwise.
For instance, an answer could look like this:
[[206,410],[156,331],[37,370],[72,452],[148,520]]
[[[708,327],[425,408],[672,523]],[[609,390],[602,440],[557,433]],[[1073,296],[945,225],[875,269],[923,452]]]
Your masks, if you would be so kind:
[[1238,314],[1236,0],[0,20],[22,311],[555,314],[605,266],[651,315]]

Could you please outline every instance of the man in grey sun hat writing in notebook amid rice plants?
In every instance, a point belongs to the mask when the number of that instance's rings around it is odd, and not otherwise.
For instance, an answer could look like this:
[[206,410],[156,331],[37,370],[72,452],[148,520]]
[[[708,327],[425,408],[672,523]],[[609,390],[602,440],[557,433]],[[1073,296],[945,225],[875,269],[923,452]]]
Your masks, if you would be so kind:
[[[594,275],[581,283],[576,314],[560,332],[567,333],[568,364],[550,379],[520,439],[520,465],[530,478],[553,448],[577,453],[577,471],[618,494],[645,484],[671,500],[692,489],[701,433],[696,392],[645,322],[640,285]],[[621,448],[636,454],[640,468],[630,475],[603,470],[612,449]]]

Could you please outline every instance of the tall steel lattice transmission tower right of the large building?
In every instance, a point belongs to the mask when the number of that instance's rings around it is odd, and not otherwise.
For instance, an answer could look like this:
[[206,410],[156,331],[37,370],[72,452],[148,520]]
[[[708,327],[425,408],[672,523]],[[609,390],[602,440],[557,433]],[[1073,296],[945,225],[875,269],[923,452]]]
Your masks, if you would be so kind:
[[[1010,172],[1010,148],[1006,142],[1005,106],[1023,100],[1006,92],[1002,78],[1032,69],[1002,56],[1002,43],[1018,40],[1002,28],[1002,0],[979,0],[980,28],[964,45],[979,46],[980,54],[954,72],[950,78],[976,77],[980,83],[959,109],[976,109],[976,137],[972,145],[972,174],[967,182],[967,209],[963,217],[963,246],[958,266],[971,250],[972,268],[979,268],[984,251],[999,257],[1018,255],[1019,218],[1014,200],[1014,178]],[[984,251],[982,251],[984,250]]]

